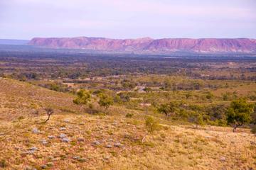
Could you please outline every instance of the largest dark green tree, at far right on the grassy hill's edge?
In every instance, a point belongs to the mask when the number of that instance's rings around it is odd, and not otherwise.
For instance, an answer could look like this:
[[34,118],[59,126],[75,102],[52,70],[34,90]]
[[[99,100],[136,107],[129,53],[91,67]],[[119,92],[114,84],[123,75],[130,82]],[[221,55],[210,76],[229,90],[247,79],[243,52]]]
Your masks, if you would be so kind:
[[245,99],[238,99],[232,101],[230,107],[226,111],[228,124],[233,125],[233,132],[235,130],[252,120],[251,114],[253,113],[253,106],[247,103]]

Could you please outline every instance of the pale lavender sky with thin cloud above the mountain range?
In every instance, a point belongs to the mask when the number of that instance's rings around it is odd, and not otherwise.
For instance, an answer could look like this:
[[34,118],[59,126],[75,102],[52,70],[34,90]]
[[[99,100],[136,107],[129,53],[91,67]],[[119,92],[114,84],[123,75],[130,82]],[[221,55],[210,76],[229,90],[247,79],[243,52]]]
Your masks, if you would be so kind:
[[256,38],[256,0],[0,0],[0,38]]

